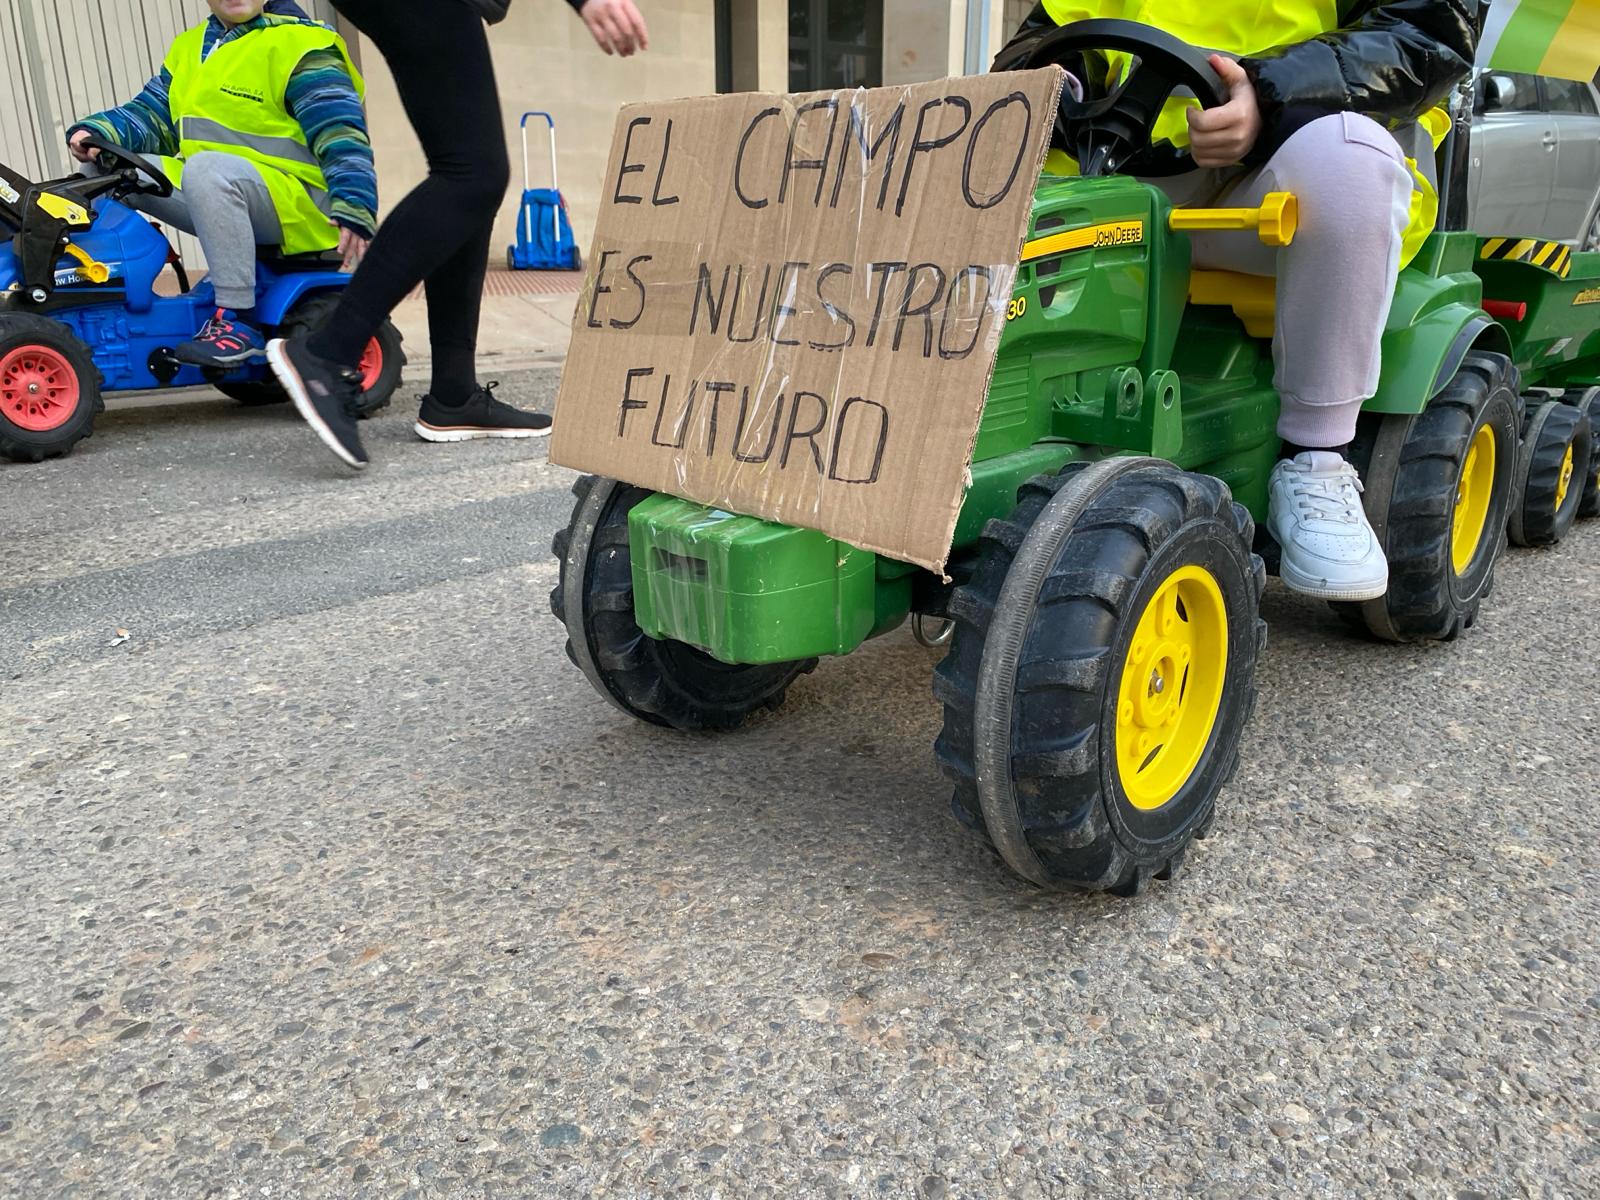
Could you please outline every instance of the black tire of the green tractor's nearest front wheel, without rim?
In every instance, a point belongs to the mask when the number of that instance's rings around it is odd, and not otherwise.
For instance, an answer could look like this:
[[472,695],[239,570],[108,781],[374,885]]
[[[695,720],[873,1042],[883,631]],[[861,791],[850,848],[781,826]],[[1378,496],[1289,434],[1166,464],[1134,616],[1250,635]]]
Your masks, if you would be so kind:
[[[984,528],[976,568],[949,605],[955,637],[934,674],[944,704],[934,754],[955,784],[957,818],[1019,875],[1131,896],[1171,878],[1205,837],[1238,765],[1266,646],[1253,536],[1221,480],[1146,458],[1040,475],[1008,520]],[[1216,709],[1170,798],[1136,806],[1118,766],[1123,677],[1142,675],[1130,662],[1150,602],[1190,566],[1214,579],[1226,618]],[[1189,682],[1184,669],[1176,699]],[[1162,691],[1155,678],[1150,688]]]

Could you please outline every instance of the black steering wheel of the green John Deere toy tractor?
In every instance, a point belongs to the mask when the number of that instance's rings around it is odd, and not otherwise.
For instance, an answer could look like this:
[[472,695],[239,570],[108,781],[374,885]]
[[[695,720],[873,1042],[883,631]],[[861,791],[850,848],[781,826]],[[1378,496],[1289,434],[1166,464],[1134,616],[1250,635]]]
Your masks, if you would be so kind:
[[[1150,144],[1155,120],[1178,88],[1187,88],[1202,109],[1227,104],[1229,91],[1206,61],[1210,51],[1190,46],[1163,29],[1138,21],[1075,21],[1042,37],[1019,42],[995,59],[994,70],[1064,66],[1096,50],[1133,54],[1128,75],[1099,99],[1074,99],[1062,88],[1054,142],[1078,160],[1080,174],[1142,174],[1150,178],[1195,170],[1187,147]],[[1093,80],[1080,80],[1088,94]]]

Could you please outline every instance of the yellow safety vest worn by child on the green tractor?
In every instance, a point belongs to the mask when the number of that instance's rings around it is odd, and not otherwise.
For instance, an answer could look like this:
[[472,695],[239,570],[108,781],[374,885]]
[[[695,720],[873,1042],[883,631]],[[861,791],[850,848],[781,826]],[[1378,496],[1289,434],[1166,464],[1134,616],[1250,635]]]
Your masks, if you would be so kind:
[[[1235,58],[1250,58],[1275,46],[1309,42],[1318,34],[1339,27],[1336,0],[1258,0],[1256,3],[1240,3],[1238,0],[1090,0],[1088,3],[1083,0],[1043,0],[1043,5],[1058,26],[1093,18],[1122,18],[1165,29],[1190,45],[1218,50]],[[1109,77],[1123,74],[1130,58],[1120,51],[1109,53]],[[1192,99],[1168,101],[1155,123],[1152,141],[1187,146],[1189,118],[1184,117],[1184,109],[1197,102]],[[1443,109],[1434,109],[1424,114],[1421,126],[1437,149],[1445,133],[1450,131],[1450,115]],[[1408,157],[1406,166],[1411,170],[1413,192],[1411,221],[1406,226],[1400,251],[1402,264],[1416,256],[1438,221],[1438,192],[1434,182],[1418,168],[1416,158]],[[1051,152],[1046,170],[1061,171],[1062,168],[1066,173],[1075,173],[1070,158]]]

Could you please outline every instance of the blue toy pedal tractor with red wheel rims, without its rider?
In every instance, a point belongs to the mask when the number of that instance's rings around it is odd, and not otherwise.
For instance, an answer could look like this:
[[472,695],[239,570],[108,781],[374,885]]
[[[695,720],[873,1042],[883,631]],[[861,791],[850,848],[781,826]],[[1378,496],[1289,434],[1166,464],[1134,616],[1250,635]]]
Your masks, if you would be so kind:
[[[120,203],[171,195],[158,166],[88,139],[104,174],[34,184],[0,166],[0,456],[38,462],[88,437],[106,392],[211,384],[246,405],[285,400],[266,360],[202,371],[173,357],[216,298],[190,286],[166,237]],[[181,294],[155,280],[171,264]],[[256,310],[280,336],[317,325],[349,282],[336,256],[264,258]],[[400,386],[400,333],[384,323],[362,358],[363,413]]]

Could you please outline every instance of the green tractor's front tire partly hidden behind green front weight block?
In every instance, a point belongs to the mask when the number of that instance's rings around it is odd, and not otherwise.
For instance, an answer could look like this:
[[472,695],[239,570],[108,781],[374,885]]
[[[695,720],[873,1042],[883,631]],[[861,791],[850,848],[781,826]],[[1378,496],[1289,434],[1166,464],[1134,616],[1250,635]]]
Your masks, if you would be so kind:
[[566,626],[566,656],[630,717],[674,730],[731,730],[776,709],[816,659],[731,666],[683,642],[646,637],[634,621],[627,514],[653,493],[584,475],[571,523],[550,547],[560,582],[550,611]]

